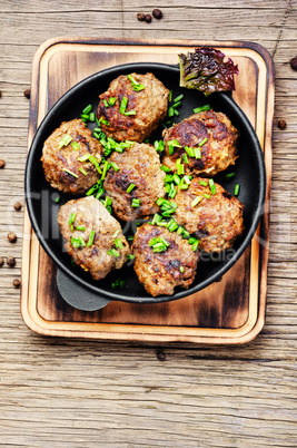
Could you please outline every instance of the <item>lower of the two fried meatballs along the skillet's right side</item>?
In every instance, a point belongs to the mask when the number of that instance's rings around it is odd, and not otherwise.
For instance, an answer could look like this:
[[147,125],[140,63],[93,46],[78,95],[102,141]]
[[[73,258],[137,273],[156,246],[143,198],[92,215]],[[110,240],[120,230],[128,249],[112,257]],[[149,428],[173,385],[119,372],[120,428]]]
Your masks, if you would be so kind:
[[[231,247],[242,234],[244,205],[219,184],[214,184],[216,192],[211,194],[209,185],[200,184],[206,182],[208,179],[196,177],[188,189],[178,189],[175,197],[178,206],[174,218],[188,232],[196,232],[200,238],[200,250],[220,252]],[[200,198],[198,203],[197,197]]]

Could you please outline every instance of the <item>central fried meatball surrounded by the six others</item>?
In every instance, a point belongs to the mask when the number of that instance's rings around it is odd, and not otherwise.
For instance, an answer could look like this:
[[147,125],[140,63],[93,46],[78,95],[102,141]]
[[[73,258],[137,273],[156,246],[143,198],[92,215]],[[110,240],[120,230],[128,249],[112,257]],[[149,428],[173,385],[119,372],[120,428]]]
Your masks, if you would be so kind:
[[[110,168],[103,186],[108,196],[112,197],[116,215],[122,221],[133,221],[158,212],[156,201],[165,196],[165,173],[160,169],[160,158],[154,146],[135,143],[123,153],[115,152],[110,162],[119,171]],[[135,187],[128,193],[132,184]],[[140,201],[139,206],[136,206],[137,201]]]

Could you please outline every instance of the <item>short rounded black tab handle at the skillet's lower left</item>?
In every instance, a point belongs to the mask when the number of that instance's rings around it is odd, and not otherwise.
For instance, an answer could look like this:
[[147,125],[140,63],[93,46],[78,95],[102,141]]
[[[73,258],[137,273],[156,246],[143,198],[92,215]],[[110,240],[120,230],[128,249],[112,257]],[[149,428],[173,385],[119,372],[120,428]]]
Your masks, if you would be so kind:
[[110,302],[110,300],[87,291],[59,269],[57,271],[57,286],[63,300],[78,310],[96,311],[105,308]]

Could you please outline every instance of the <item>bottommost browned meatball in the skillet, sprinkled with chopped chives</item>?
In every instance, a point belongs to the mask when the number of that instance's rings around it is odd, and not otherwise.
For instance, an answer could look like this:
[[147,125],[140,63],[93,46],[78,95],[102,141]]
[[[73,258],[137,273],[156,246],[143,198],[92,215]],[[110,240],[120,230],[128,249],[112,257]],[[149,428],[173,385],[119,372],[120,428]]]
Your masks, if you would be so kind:
[[[155,237],[162,237],[170,244],[165,252],[154,252],[149,246]],[[172,295],[176,286],[187,289],[192,283],[198,251],[194,252],[187,240],[176,232],[143,224],[136,232],[132,250],[138,280],[152,296]]]

